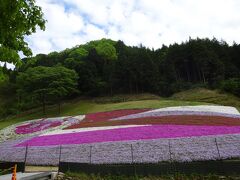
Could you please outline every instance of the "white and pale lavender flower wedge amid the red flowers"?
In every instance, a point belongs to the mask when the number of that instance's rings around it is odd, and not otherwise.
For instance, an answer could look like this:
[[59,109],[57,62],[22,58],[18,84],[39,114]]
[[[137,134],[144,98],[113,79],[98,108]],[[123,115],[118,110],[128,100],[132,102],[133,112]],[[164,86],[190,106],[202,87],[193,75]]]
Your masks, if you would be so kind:
[[225,116],[240,118],[239,111],[230,106],[213,106],[213,105],[200,105],[200,106],[176,106],[160,108],[151,111],[146,111],[137,114],[113,118],[111,120],[124,120],[136,119],[144,117],[160,117],[168,115],[210,115],[210,116]]

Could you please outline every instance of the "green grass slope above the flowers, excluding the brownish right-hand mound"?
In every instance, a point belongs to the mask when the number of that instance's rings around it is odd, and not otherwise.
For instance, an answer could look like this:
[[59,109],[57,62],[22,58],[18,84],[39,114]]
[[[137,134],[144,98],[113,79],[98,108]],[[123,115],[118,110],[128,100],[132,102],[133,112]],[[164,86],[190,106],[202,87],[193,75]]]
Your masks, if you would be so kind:
[[[122,97],[119,99],[119,97]],[[117,100],[116,100],[117,99]],[[112,101],[111,101],[112,100]],[[116,102],[119,101],[119,102]],[[122,102],[124,101],[124,102]],[[116,109],[134,109],[134,108],[161,108],[168,106],[180,105],[199,105],[203,103],[182,101],[182,100],[169,100],[163,99],[153,95],[138,95],[138,96],[114,96],[107,98],[74,100],[62,105],[61,114],[58,114],[57,106],[48,106],[47,114],[45,117],[79,115],[91,112],[111,111]],[[42,118],[43,114],[41,108],[37,108],[18,116],[12,116],[5,120],[0,121],[0,129],[15,124],[21,121]]]

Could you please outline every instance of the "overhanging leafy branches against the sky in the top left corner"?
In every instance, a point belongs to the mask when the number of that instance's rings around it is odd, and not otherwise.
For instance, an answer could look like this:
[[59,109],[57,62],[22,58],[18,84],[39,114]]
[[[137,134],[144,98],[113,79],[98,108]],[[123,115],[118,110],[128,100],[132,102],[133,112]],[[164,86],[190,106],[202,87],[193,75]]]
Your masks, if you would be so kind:
[[0,0],[0,60],[19,65],[19,51],[31,55],[24,37],[44,30],[45,22],[35,0]]

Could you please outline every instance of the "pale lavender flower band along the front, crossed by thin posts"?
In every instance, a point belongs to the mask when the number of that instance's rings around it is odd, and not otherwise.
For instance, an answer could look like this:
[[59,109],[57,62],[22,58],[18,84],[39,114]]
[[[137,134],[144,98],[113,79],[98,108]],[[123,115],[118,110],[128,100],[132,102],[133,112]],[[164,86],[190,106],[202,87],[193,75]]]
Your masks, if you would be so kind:
[[13,147],[14,143],[19,142],[0,145],[1,161],[24,162],[26,150],[26,163],[31,165],[57,165],[60,152],[62,162],[93,164],[190,162],[240,157],[239,134],[28,148]]

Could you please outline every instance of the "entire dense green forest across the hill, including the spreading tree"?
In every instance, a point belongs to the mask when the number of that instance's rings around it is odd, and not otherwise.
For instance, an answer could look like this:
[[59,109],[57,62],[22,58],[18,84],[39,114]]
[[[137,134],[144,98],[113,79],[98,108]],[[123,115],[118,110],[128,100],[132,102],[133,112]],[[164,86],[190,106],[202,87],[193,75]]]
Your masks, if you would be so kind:
[[[14,70],[0,69],[0,98],[11,97],[0,116],[77,96],[175,92],[206,87],[240,95],[240,45],[189,39],[149,49],[101,39],[23,58]],[[3,103],[3,102],[2,102]]]

